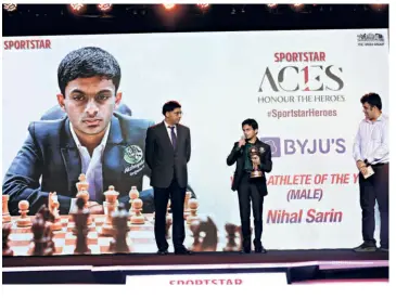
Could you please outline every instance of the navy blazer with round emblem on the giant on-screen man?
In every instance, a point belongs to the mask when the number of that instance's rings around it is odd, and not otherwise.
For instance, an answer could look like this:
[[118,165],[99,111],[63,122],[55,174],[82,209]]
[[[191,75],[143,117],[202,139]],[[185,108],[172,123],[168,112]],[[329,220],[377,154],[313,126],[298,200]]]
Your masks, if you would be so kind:
[[[131,186],[142,190],[144,167],[144,139],[149,120],[132,119],[115,113],[111,119],[111,129],[103,153],[103,191],[114,185],[119,192],[119,202],[127,208]],[[49,192],[56,192],[60,212],[68,213],[71,198],[76,197],[81,160],[78,148],[69,130],[67,117],[58,120],[31,122],[28,136],[14,158],[3,181],[3,194],[10,195],[10,213],[18,214],[18,202],[27,199],[29,213],[34,214],[48,202]],[[41,183],[40,183],[41,179]],[[152,192],[149,192],[152,193]],[[151,203],[144,200],[144,209],[153,210],[152,194],[146,194]],[[92,198],[102,204],[104,195]],[[148,207],[152,206],[152,207]]]

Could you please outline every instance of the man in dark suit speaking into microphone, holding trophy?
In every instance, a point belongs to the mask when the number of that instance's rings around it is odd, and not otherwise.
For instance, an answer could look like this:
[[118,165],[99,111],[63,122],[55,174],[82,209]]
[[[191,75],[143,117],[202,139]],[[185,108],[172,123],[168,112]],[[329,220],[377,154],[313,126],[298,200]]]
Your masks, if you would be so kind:
[[[237,170],[232,181],[232,191],[238,191],[240,217],[243,235],[243,253],[251,252],[251,200],[253,204],[254,217],[254,246],[255,252],[266,252],[261,244],[263,233],[263,204],[264,196],[268,195],[267,179],[265,172],[272,170],[271,148],[257,139],[258,125],[254,119],[246,119],[242,122],[244,136],[235,142],[230,155],[227,157],[227,165],[232,166],[237,161]],[[252,148],[257,155],[251,157]],[[261,171],[263,177],[251,178],[253,168]]]

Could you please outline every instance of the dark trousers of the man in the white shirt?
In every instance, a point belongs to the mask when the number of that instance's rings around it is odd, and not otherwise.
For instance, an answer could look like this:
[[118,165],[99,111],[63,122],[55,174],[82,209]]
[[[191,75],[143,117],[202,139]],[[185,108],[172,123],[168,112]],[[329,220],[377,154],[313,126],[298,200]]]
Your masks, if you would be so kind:
[[359,174],[361,231],[365,243],[376,244],[374,239],[376,199],[381,217],[381,247],[388,248],[389,165],[373,165],[372,169],[375,173],[366,180],[361,173]]

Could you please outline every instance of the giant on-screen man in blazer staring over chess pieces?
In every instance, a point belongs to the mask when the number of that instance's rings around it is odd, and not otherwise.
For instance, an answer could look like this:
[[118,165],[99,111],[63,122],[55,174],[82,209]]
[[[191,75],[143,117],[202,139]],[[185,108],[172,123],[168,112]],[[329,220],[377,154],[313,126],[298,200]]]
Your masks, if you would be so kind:
[[[116,58],[95,47],[69,52],[60,63],[58,106],[28,126],[28,135],[3,180],[11,214],[27,200],[29,214],[56,193],[61,214],[76,208],[77,185],[85,184],[89,212],[103,214],[104,193],[112,186],[130,208],[132,187],[140,192],[143,212],[153,212],[153,190],[142,191],[151,170],[144,158],[148,128],[122,104],[122,70]],[[194,192],[188,186],[192,197]],[[26,202],[24,202],[24,205]]]

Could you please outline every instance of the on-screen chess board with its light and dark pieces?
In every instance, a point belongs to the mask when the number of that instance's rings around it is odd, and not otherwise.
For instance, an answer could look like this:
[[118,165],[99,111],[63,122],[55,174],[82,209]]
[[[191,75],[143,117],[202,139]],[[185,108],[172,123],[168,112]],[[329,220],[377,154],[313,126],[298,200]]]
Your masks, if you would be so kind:
[[[48,204],[35,216],[28,216],[29,203],[20,202],[20,216],[8,211],[8,195],[2,195],[3,256],[62,256],[156,252],[154,213],[142,211],[142,200],[136,186],[129,192],[130,210],[118,203],[118,192],[110,186],[103,203],[104,214],[90,214],[85,176],[77,183],[75,209],[59,213],[56,193],[50,193]],[[193,251],[238,251],[241,249],[240,226],[227,223],[219,230],[210,217],[197,212],[199,202],[187,192],[184,199],[186,245]],[[171,239],[170,200],[166,217],[166,234]],[[171,242],[169,249],[173,250]]]

